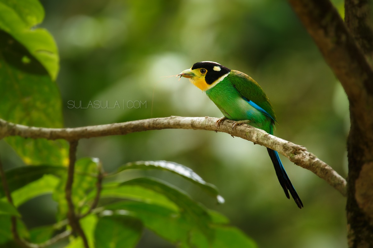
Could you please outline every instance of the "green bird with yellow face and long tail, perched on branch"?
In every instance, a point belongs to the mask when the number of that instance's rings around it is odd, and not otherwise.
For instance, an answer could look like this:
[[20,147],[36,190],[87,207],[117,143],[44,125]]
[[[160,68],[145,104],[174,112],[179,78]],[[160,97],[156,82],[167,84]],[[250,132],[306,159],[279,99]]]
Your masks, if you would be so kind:
[[[197,62],[179,76],[189,78],[220,109],[224,117],[216,125],[220,125],[225,119],[231,119],[235,121],[233,127],[250,122],[250,125],[273,134],[277,122],[275,112],[262,88],[250,76],[212,61]],[[295,203],[302,208],[303,203],[292,186],[277,151],[269,148],[267,151],[286,197],[290,199],[290,192]]]

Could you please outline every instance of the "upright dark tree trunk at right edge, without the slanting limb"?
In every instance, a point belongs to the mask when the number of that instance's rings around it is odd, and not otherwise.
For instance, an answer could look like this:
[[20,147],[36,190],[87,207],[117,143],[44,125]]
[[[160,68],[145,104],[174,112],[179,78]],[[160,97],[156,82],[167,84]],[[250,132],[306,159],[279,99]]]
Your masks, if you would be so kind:
[[[371,3],[345,0],[345,23],[368,61],[373,54]],[[370,82],[373,84],[373,82]],[[350,102],[348,135],[347,223],[349,247],[373,247],[373,99],[369,95],[365,116]],[[365,118],[364,118],[365,117]]]

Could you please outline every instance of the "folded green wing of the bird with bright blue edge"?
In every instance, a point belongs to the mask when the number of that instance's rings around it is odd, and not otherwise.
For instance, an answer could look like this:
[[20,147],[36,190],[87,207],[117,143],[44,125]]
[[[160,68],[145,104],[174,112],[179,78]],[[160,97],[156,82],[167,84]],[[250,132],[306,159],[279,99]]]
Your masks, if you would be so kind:
[[277,122],[275,112],[266,93],[253,78],[240,71],[232,70],[228,75],[228,79],[241,94],[242,98],[251,106]]

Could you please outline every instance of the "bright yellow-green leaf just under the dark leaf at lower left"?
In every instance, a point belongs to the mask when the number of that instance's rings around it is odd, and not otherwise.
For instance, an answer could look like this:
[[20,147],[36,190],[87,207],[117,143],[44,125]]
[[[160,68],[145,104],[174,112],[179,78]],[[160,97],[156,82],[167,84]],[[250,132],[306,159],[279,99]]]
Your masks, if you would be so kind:
[[54,175],[43,175],[39,180],[13,191],[12,198],[14,205],[18,207],[32,198],[52,193],[59,181],[60,179]]

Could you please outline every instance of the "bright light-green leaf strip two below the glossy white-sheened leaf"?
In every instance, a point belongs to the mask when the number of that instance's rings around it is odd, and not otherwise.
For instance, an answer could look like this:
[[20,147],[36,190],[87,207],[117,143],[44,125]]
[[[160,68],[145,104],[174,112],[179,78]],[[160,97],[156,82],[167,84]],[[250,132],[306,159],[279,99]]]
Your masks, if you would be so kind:
[[[88,195],[87,200],[92,200],[95,192]],[[115,197],[130,200],[137,200],[146,203],[152,203],[159,206],[164,206],[172,210],[178,210],[178,206],[170,201],[163,194],[157,193],[154,190],[147,189],[136,185],[122,185],[120,183],[104,183],[100,194],[101,198]]]

